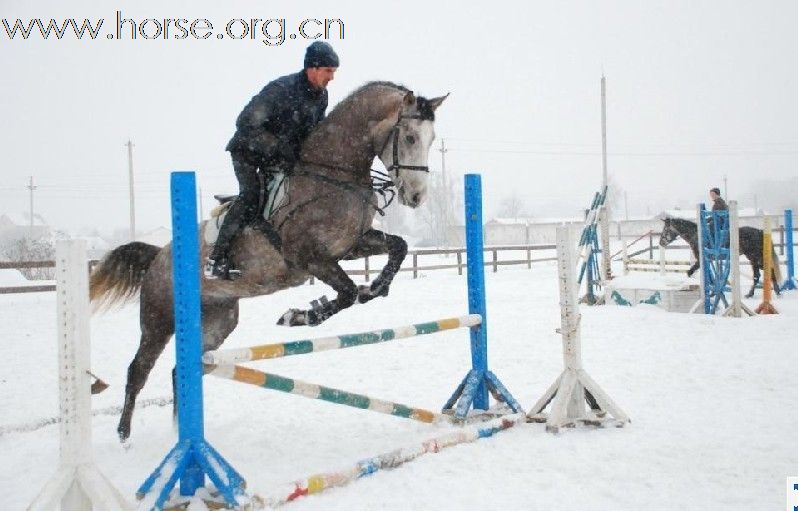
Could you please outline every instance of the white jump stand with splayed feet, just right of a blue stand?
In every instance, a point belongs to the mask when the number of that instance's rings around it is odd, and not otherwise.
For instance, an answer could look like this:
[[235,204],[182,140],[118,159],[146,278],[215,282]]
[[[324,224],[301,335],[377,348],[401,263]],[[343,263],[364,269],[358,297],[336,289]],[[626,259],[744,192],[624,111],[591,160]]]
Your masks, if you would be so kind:
[[[600,425],[608,422],[609,413],[616,426],[623,426],[629,417],[593,381],[582,367],[582,343],[580,335],[581,315],[576,298],[576,279],[573,265],[573,243],[568,228],[557,227],[557,265],[560,282],[560,334],[563,344],[565,369],[549,387],[543,397],[527,414],[530,422],[546,422],[546,431],[557,433],[561,427],[577,423]],[[592,409],[587,411],[586,392],[593,397]],[[551,414],[546,417],[543,410],[552,403]]]

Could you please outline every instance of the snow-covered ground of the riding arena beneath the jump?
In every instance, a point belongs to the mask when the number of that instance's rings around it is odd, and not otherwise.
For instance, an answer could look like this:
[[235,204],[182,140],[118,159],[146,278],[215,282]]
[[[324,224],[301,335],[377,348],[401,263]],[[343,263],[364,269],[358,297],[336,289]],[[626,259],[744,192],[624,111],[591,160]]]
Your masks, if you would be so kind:
[[[525,406],[562,369],[556,268],[503,267],[486,275],[490,365]],[[316,328],[275,325],[289,307],[329,290],[303,286],[242,302],[225,344],[239,347],[351,333],[461,315],[465,278],[454,271],[400,275],[385,299]],[[0,495],[20,510],[58,462],[54,293],[0,296]],[[756,302],[747,302],[750,306]],[[798,475],[795,326],[798,293],[777,316],[723,319],[652,306],[582,308],[585,367],[631,416],[622,429],[547,434],[525,424],[474,444],[291,504],[302,509],[783,509]],[[132,496],[173,446],[169,406],[136,410],[132,442],[116,437],[138,305],[92,319],[92,369],[111,387],[95,396],[94,452]],[[269,372],[437,409],[467,371],[464,330],[378,346],[253,363]],[[168,397],[172,345],[140,400]],[[206,436],[255,493],[413,444],[447,430],[206,378]]]

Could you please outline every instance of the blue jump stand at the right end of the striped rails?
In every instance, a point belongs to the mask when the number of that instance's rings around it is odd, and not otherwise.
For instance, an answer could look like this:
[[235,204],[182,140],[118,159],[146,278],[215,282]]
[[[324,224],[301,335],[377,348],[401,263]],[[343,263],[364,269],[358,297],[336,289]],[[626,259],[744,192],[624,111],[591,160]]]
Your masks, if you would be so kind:
[[[471,370],[458,385],[443,411],[454,410],[455,417],[465,419],[473,405],[488,410],[488,391],[496,399],[507,403],[513,412],[521,412],[521,405],[488,370],[488,319],[485,306],[485,259],[482,239],[482,176],[465,176],[466,268],[468,270],[468,312],[479,314],[482,321],[471,327]],[[456,405],[456,408],[455,408]]]

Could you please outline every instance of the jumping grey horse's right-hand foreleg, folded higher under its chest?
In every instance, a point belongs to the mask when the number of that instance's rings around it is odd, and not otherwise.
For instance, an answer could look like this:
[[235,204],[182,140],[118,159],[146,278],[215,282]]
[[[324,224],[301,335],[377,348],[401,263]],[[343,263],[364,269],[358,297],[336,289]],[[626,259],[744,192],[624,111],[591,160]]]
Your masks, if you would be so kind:
[[388,262],[368,286],[358,286],[357,300],[366,303],[378,296],[388,296],[391,282],[407,255],[407,243],[399,236],[372,229],[367,231],[345,259],[360,259],[371,255],[388,254]]

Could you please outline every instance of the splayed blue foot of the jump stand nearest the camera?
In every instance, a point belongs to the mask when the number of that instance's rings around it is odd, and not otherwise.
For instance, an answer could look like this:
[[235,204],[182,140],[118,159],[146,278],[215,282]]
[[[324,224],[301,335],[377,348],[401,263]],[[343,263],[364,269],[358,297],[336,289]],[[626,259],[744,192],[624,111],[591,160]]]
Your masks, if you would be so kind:
[[[167,475],[165,472],[169,470],[172,473]],[[246,497],[244,478],[205,440],[183,441],[175,445],[144,481],[136,496],[142,499],[150,491],[157,491],[158,499],[151,509],[159,510],[163,508],[178,479],[182,481],[181,490],[188,481],[188,486],[193,487],[189,495],[193,495],[196,488],[204,486],[206,474],[228,505],[239,507],[243,504],[244,500],[239,501],[239,498]],[[158,486],[153,488],[156,483]]]

